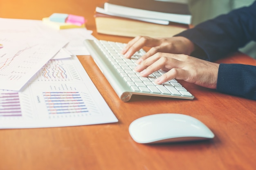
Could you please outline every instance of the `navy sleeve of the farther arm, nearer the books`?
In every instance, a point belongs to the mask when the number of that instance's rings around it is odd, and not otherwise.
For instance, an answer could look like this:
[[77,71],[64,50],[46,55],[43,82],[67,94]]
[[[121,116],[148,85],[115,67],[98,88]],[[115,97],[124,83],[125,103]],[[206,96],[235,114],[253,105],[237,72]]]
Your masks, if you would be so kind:
[[216,61],[236,52],[251,40],[256,40],[256,3],[227,15],[203,22],[176,36],[191,40],[198,48],[195,57]]

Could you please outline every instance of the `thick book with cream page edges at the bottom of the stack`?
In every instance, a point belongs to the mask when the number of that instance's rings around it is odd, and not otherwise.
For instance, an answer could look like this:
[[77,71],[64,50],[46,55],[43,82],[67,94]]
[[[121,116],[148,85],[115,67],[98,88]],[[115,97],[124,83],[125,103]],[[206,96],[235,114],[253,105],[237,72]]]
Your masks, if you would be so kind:
[[188,25],[184,24],[170,22],[168,25],[162,25],[97,12],[94,18],[98,33],[126,37],[136,37],[138,35],[155,38],[171,37],[189,28]]

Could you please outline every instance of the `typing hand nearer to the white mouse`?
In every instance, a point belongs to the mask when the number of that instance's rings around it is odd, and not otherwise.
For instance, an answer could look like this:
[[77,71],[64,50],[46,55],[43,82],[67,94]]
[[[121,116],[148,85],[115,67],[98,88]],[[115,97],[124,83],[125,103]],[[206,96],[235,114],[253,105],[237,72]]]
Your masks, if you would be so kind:
[[195,83],[202,87],[216,89],[218,68],[218,63],[212,63],[186,54],[157,52],[141,61],[135,71],[146,77],[162,69],[166,73],[155,80],[156,84],[162,84],[175,78]]

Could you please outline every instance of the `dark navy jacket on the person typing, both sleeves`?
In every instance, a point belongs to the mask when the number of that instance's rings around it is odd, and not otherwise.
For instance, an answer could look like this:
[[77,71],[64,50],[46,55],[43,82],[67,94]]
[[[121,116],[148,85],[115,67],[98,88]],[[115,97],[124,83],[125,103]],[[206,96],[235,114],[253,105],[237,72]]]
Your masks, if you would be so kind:
[[[256,1],[249,7],[220,15],[175,36],[195,44],[191,56],[209,61],[226,57],[251,40],[256,40]],[[256,66],[220,64],[217,91],[256,100]]]

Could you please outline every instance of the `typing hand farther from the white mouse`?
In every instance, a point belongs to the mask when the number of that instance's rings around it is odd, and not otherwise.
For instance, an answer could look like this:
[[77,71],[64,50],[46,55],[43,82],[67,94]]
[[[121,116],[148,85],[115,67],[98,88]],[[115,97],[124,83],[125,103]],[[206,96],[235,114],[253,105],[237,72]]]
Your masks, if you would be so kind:
[[124,54],[124,57],[130,58],[132,54],[144,46],[151,48],[137,63],[141,60],[147,59],[157,52],[189,55],[194,50],[194,44],[185,37],[151,38],[137,36],[128,42],[127,46],[121,51],[121,53]]

